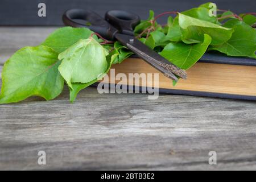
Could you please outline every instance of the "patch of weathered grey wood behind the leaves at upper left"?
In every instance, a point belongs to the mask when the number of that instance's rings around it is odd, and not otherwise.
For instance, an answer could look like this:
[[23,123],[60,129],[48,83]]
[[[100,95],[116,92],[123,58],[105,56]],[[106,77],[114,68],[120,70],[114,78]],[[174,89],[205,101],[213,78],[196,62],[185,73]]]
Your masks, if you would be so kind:
[[37,46],[56,27],[0,27],[0,65],[15,51],[25,46]]

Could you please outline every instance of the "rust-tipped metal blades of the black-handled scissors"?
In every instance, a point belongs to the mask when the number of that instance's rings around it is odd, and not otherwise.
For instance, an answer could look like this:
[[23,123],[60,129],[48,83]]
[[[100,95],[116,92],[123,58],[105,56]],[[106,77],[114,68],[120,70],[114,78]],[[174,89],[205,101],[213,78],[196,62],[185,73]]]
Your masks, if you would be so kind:
[[175,81],[178,80],[175,75],[183,79],[187,78],[187,73],[183,69],[180,69],[179,67],[176,67],[176,65],[170,63],[170,61],[160,56],[154,50],[148,48],[134,36],[119,33],[115,34],[114,36],[117,40],[119,40],[119,42],[123,44],[123,46],[129,48],[132,52],[141,57],[152,67],[158,69],[168,78],[171,78]]

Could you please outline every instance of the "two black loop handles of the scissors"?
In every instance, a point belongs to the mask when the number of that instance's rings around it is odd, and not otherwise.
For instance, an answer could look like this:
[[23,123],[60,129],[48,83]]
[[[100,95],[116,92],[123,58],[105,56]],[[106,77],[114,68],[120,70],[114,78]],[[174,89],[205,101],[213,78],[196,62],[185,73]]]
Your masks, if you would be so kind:
[[[92,25],[86,26],[77,22],[78,19],[85,20]],[[87,27],[108,40],[114,40],[117,32],[133,35],[133,28],[140,22],[138,15],[121,10],[108,11],[105,19],[93,11],[83,9],[71,9],[63,14],[63,22],[66,26]]]

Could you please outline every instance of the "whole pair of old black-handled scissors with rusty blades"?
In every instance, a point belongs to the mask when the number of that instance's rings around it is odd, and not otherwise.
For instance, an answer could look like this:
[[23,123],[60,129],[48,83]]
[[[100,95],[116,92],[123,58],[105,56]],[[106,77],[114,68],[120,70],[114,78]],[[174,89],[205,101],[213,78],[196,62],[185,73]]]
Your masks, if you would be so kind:
[[[86,26],[86,23],[81,23],[80,20],[85,20],[91,25]],[[118,40],[135,55],[141,57],[172,80],[177,81],[178,77],[187,78],[187,73],[183,69],[176,67],[176,65],[170,63],[170,61],[135,38],[133,29],[140,22],[138,15],[122,10],[110,10],[106,12],[104,19],[93,11],[71,9],[63,14],[63,22],[65,26],[86,27],[97,32],[105,39]]]

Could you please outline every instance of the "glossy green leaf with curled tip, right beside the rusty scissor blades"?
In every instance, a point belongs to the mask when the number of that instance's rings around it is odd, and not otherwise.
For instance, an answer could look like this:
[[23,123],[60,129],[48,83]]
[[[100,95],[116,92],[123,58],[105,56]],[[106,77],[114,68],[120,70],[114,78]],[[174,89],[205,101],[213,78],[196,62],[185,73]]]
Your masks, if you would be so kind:
[[203,43],[169,43],[164,47],[163,51],[160,52],[160,55],[175,64],[177,67],[180,67],[181,69],[188,69],[204,55],[210,42],[210,36],[205,34]]

